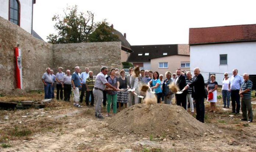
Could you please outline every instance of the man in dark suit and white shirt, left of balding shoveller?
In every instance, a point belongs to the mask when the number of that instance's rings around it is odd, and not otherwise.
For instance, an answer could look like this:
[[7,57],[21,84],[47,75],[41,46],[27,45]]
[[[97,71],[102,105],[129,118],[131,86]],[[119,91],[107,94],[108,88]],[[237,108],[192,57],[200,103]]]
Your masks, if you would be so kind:
[[[181,69],[176,70],[177,78],[175,80],[175,85],[178,86],[179,90],[182,90],[186,86],[186,78],[181,74]],[[181,94],[175,94],[177,99],[177,105],[182,106],[186,109],[186,94],[187,91],[184,91]]]

